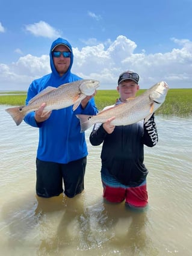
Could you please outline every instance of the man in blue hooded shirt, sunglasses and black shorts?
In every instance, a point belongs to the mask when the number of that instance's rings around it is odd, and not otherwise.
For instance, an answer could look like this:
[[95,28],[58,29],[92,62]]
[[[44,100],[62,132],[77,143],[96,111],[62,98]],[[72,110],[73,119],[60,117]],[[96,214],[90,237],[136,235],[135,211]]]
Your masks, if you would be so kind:
[[[71,72],[73,64],[72,46],[67,40],[55,40],[49,53],[52,72],[43,76],[29,86],[26,104],[48,86],[81,80]],[[25,122],[39,128],[39,146],[37,149],[38,196],[49,198],[64,193],[69,198],[84,190],[84,174],[87,163],[87,145],[85,134],[80,133],[79,120],[75,114],[96,114],[94,95],[87,96],[79,107],[73,111],[72,106],[53,110],[42,115],[45,103],[36,112],[25,116]]]

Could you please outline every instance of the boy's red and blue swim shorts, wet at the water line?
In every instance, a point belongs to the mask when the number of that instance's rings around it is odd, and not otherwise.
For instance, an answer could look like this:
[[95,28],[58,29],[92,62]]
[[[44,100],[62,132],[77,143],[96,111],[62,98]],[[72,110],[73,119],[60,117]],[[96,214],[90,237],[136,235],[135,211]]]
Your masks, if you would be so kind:
[[113,178],[113,183],[107,184],[107,177],[102,175],[102,184],[104,187],[104,198],[109,202],[122,202],[125,200],[130,207],[146,207],[147,206],[147,186],[144,181],[138,187],[128,187]]

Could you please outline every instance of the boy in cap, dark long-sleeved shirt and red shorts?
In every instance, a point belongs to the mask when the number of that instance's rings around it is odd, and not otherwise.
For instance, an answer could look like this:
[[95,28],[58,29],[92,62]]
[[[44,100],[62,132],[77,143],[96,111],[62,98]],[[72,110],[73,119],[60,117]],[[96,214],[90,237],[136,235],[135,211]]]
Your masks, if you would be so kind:
[[[125,71],[120,74],[117,86],[120,98],[116,105],[135,97],[139,90],[138,81],[137,73]],[[111,125],[114,119],[115,117],[111,117],[105,123],[96,123],[90,134],[92,145],[103,143],[101,180],[104,198],[110,202],[125,200],[130,207],[144,208],[148,198],[148,171],[143,164],[144,145],[152,147],[158,142],[154,114],[146,123],[138,122],[125,126]]]

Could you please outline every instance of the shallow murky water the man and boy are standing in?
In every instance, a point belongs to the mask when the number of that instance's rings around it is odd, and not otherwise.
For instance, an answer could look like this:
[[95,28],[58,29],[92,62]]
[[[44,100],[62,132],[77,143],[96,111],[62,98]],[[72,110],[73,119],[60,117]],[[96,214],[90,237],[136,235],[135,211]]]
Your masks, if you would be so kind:
[[159,143],[145,147],[149,207],[102,199],[101,146],[91,146],[85,190],[37,198],[38,130],[16,126],[0,106],[1,255],[185,255],[192,250],[192,118],[156,116]]

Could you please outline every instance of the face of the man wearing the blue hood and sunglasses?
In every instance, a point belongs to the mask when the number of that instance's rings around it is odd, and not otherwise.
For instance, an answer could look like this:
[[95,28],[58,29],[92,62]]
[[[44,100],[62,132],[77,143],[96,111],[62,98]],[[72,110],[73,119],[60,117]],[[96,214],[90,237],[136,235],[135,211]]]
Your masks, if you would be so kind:
[[[69,49],[64,46],[64,45],[58,45],[55,49],[54,52],[69,52]],[[70,57],[65,58],[63,57],[63,54],[61,54],[60,57],[53,57],[54,60],[54,66],[57,72],[59,73],[60,76],[64,75],[64,73],[67,72],[67,69],[69,69],[70,66]]]

